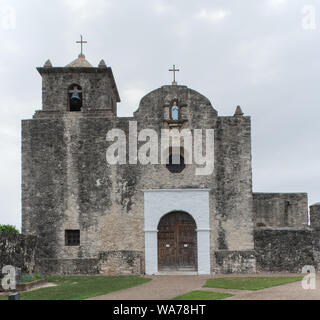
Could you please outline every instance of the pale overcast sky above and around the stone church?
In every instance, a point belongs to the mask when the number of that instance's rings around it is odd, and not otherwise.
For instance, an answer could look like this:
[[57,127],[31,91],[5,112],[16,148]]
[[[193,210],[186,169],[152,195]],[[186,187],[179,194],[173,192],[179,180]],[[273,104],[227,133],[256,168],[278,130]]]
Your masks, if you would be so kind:
[[35,68],[74,60],[80,34],[87,60],[113,69],[120,116],[170,84],[176,64],[179,84],[219,115],[241,105],[252,117],[254,191],[320,201],[319,1],[0,0],[0,224],[21,226],[20,123],[41,109]]

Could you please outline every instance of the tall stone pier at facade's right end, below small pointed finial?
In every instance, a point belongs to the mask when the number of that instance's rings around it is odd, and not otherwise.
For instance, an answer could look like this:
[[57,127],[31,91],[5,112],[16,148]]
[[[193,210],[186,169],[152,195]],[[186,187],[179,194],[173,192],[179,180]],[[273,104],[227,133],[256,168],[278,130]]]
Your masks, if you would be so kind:
[[251,118],[219,117],[215,126],[215,250],[253,250]]

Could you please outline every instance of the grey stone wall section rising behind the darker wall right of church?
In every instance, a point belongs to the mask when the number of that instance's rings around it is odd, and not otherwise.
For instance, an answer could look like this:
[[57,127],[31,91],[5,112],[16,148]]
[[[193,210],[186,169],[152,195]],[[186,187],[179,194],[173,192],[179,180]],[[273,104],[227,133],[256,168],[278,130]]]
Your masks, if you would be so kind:
[[306,193],[254,193],[253,219],[256,227],[306,227]]

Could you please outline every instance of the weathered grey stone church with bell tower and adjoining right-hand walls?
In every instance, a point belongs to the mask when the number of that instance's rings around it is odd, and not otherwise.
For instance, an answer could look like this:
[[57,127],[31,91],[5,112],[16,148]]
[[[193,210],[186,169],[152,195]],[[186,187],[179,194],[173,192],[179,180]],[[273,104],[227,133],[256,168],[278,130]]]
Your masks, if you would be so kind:
[[[253,192],[251,119],[241,108],[219,116],[206,97],[173,83],[143,97],[133,117],[121,118],[112,69],[103,60],[93,67],[81,54],[66,67],[47,61],[38,72],[42,110],[22,121],[22,232],[41,239],[42,272],[317,268],[320,206],[312,207],[310,226],[307,194]],[[159,136],[163,129],[214,130],[214,171],[196,175],[195,164],[183,163],[109,164],[107,133],[121,129],[129,140],[133,122]]]

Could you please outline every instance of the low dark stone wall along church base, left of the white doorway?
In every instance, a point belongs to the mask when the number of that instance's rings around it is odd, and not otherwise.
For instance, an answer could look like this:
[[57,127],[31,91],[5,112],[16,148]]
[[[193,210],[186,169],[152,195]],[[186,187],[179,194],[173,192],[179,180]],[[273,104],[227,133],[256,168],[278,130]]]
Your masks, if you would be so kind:
[[7,265],[20,268],[22,273],[40,271],[45,275],[138,275],[144,273],[144,254],[107,251],[91,259],[55,259],[45,239],[0,233],[0,271]]

